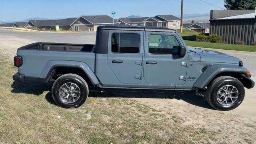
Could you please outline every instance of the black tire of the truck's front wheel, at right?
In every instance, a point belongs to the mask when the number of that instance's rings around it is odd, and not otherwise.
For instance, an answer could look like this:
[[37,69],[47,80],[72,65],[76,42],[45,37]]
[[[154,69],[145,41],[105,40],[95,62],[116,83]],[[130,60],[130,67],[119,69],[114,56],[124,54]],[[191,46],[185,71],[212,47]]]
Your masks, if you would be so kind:
[[[229,104],[228,102],[224,102],[224,104],[220,104],[217,100],[217,94],[223,86],[226,85],[231,85],[234,86],[237,89],[238,92],[238,98],[237,99],[232,99],[234,100],[234,103]],[[207,102],[216,110],[233,110],[234,108],[238,107],[242,101],[244,100],[244,85],[237,80],[234,77],[231,76],[220,76],[216,79],[214,79],[208,86],[205,97]],[[229,99],[230,100],[230,99]]]

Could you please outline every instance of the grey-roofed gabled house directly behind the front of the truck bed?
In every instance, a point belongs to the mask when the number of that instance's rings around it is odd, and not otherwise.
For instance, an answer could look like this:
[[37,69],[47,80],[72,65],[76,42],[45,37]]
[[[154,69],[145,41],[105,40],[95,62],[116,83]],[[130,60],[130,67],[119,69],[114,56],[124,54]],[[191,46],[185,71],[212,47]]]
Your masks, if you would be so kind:
[[[100,24],[113,24],[113,18],[107,15],[80,16],[70,26],[72,31],[96,31]],[[120,22],[114,20],[114,24],[120,24]]]

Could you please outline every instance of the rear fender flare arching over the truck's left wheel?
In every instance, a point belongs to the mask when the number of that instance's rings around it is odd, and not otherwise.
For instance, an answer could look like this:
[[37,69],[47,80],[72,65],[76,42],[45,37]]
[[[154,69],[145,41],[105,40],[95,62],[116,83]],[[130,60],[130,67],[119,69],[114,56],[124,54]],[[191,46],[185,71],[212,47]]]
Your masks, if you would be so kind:
[[92,69],[84,62],[79,61],[68,61],[68,60],[51,60],[49,61],[43,68],[40,79],[43,82],[47,82],[48,78],[50,77],[50,74],[54,70],[54,68],[57,67],[76,67],[81,68],[84,73],[88,76],[90,82],[92,82],[93,85],[98,85],[100,82]]

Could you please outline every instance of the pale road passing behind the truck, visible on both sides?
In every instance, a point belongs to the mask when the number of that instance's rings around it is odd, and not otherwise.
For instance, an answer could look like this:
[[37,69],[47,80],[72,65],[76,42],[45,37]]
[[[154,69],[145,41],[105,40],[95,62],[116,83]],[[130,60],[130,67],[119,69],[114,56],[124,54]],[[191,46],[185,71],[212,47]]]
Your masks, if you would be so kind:
[[[0,28],[0,38],[19,37],[35,42],[59,42],[59,43],[77,43],[77,44],[95,44],[95,32],[83,33],[54,33],[54,32],[24,32],[20,30],[10,30]],[[250,70],[252,76],[256,74],[256,53],[255,52],[235,52],[233,50],[218,50],[240,58],[244,66]]]

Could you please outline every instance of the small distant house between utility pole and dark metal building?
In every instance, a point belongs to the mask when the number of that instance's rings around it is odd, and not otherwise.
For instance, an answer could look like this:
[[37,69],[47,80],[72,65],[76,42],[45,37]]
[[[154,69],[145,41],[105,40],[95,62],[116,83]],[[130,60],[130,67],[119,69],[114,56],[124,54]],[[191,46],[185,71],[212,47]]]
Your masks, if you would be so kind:
[[209,33],[210,31],[210,23],[202,22],[202,23],[185,23],[183,24],[183,28],[194,30],[196,32]]

